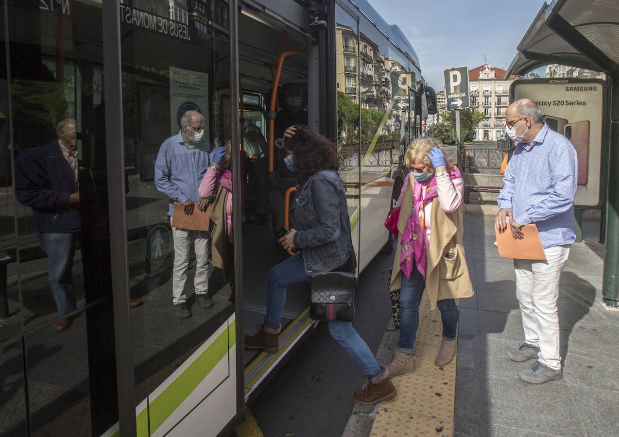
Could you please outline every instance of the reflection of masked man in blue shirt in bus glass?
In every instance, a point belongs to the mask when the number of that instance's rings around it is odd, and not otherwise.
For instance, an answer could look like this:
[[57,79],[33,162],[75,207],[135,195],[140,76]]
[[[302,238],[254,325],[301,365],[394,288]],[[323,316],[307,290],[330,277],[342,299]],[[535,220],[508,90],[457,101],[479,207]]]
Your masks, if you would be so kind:
[[[206,210],[207,199],[198,196],[202,176],[209,167],[209,151],[201,142],[204,135],[204,116],[197,111],[187,111],[181,118],[181,131],[161,145],[155,162],[155,185],[168,196],[170,224],[174,202],[183,204],[185,214],[192,214],[197,207]],[[174,241],[174,268],[172,272],[172,302],[178,318],[191,317],[184,293],[189,268],[189,248],[194,243],[196,275],[194,287],[196,302],[202,308],[212,308],[210,300],[210,235],[209,231],[193,231],[172,227]]]

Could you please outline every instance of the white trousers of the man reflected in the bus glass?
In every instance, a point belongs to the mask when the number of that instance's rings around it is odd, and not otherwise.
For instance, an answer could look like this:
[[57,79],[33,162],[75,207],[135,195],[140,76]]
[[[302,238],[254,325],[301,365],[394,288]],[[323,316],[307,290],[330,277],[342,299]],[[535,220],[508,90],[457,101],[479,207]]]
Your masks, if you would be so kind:
[[[170,217],[170,225],[172,218]],[[206,294],[209,291],[210,276],[210,234],[209,231],[192,231],[172,227],[174,240],[174,268],[172,270],[172,301],[183,303],[187,300],[184,293],[189,269],[189,249],[194,244],[196,252],[196,276],[194,287],[197,295]]]

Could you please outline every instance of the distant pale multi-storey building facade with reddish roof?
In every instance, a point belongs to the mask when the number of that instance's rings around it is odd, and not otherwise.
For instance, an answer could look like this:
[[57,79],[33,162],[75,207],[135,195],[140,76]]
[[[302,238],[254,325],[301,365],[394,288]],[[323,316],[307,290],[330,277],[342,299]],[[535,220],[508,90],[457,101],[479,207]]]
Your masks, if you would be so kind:
[[484,114],[475,129],[476,141],[504,139],[505,110],[509,105],[509,85],[516,77],[505,77],[504,69],[490,63],[469,70],[470,107]]

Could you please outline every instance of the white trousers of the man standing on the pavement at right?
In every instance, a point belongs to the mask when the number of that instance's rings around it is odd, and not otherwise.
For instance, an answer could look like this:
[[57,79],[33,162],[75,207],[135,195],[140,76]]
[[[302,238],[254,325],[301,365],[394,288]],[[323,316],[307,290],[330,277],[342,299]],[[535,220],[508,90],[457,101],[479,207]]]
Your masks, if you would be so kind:
[[514,259],[516,296],[520,303],[524,340],[540,348],[538,360],[561,369],[559,353],[559,280],[568,259],[569,244],[544,249],[546,261]]

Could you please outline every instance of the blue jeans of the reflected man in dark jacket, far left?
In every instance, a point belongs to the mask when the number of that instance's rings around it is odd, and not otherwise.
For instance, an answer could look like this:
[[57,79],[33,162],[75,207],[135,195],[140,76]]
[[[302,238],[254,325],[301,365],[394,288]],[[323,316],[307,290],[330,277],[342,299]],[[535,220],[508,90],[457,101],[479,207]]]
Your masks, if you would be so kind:
[[39,233],[38,241],[47,255],[48,280],[56,300],[58,316],[76,309],[76,293],[73,288],[73,256],[76,252],[77,234]]

